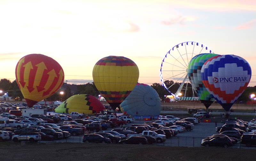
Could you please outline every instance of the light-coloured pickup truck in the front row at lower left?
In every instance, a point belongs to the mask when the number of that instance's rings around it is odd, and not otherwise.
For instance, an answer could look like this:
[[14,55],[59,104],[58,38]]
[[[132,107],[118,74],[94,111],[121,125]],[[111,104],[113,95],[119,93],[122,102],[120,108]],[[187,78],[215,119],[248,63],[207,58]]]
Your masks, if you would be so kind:
[[19,141],[29,141],[29,142],[37,142],[41,140],[41,135],[36,132],[24,132],[19,135],[13,135],[12,141],[19,142]]

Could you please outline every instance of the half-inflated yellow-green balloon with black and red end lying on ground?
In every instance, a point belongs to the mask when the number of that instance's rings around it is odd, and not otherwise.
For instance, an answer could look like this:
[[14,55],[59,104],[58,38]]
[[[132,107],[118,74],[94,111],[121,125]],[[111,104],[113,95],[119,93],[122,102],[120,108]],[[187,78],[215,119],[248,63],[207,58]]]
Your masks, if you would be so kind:
[[69,97],[66,101],[62,102],[56,109],[58,113],[71,113],[78,112],[84,114],[99,113],[105,110],[105,107],[94,96],[80,94]]

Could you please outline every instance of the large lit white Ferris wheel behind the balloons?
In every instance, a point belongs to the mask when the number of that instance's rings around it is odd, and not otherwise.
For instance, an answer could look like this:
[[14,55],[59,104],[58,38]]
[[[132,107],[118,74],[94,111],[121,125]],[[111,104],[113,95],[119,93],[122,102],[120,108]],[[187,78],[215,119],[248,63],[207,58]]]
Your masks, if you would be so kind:
[[[212,50],[199,42],[182,42],[172,47],[162,60],[160,68],[160,78],[162,85],[176,98],[178,94],[184,90],[182,96],[186,96],[188,90],[188,63],[189,61],[198,54],[202,53],[213,53]],[[166,81],[173,81],[174,83],[167,87]],[[179,85],[178,90],[173,94],[169,89],[173,85]],[[193,96],[194,96],[194,90]]]

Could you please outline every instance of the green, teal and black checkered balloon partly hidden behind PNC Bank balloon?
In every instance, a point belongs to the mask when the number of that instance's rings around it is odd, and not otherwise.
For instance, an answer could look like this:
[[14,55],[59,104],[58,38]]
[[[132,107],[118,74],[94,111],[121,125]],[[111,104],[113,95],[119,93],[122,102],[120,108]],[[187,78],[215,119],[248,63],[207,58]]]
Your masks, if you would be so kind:
[[198,54],[193,57],[188,64],[187,72],[189,81],[206,109],[208,109],[208,107],[213,103],[213,101],[215,101],[215,99],[204,87],[201,78],[201,68],[209,58],[217,55],[218,54],[213,53]]

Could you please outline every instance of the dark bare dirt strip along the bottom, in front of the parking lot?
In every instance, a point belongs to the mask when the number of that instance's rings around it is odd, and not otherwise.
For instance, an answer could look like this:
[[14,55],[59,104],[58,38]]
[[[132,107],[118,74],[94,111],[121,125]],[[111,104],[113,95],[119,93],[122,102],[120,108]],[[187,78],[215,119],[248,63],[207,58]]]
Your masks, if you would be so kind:
[[1,142],[1,161],[255,161],[253,149],[101,143]]

